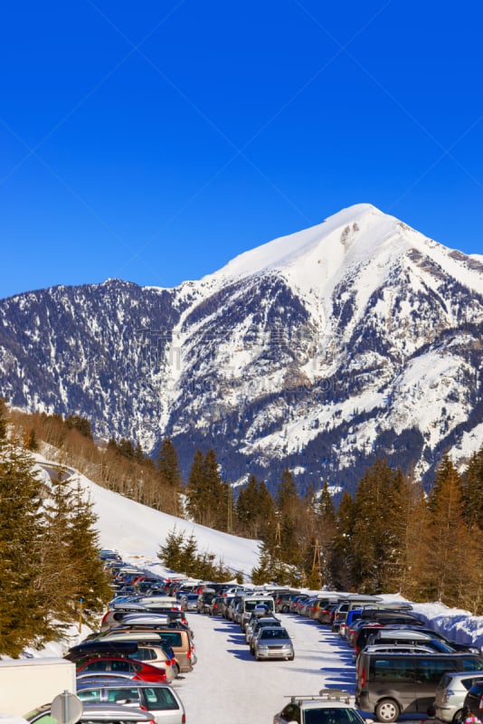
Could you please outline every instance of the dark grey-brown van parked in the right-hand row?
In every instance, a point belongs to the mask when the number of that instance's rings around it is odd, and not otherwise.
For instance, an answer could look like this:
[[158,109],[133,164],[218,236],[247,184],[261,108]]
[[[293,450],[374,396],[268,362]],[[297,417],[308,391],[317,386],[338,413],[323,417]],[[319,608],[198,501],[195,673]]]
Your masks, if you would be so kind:
[[483,657],[473,653],[360,653],[355,704],[374,712],[378,721],[402,713],[426,713],[445,672],[483,671]]

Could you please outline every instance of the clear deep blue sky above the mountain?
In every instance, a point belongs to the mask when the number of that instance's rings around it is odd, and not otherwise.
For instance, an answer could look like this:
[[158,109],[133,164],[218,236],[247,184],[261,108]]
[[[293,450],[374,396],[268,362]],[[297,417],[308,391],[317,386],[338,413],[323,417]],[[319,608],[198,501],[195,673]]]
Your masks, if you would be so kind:
[[173,286],[372,203],[483,253],[473,0],[45,0],[0,24],[0,297]]

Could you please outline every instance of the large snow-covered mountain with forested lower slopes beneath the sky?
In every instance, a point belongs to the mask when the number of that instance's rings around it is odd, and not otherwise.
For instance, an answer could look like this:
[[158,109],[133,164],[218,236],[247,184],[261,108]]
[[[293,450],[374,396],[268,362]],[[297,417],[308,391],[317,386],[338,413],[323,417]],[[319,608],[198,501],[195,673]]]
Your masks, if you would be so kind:
[[81,414],[187,472],[353,490],[376,454],[431,476],[483,443],[483,258],[371,205],[171,290],[123,281],[0,302],[1,394]]

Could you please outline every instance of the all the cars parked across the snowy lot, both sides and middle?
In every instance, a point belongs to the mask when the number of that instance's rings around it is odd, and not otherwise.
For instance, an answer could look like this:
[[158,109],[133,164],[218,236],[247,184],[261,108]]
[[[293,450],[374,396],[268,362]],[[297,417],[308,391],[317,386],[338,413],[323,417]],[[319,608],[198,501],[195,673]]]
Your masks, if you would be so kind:
[[[424,715],[433,702],[438,717],[449,724],[459,721],[465,705],[477,715],[483,713],[480,653],[428,629],[411,605],[391,606],[376,596],[346,593],[310,596],[275,587],[255,590],[150,579],[117,557],[107,557],[105,566],[115,590],[109,610],[99,632],[67,653],[76,663],[78,695],[90,722],[98,721],[95,709],[99,724],[107,724],[100,711],[110,707],[114,724],[185,724],[185,708],[173,684],[196,663],[189,612],[238,624],[256,660],[294,658],[287,618],[282,622],[281,613],[308,616],[351,647],[355,704],[346,691],[294,696],[275,715],[274,724],[362,724],[358,710],[389,724],[401,714]],[[116,719],[123,709],[129,711],[126,719]],[[32,721],[53,724],[48,710],[37,716]]]

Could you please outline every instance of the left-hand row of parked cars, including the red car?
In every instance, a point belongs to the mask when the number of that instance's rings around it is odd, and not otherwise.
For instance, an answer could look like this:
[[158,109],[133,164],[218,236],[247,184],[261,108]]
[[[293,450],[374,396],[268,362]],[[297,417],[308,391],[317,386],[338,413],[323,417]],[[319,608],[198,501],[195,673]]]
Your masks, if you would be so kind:
[[[149,578],[101,551],[114,597],[99,631],[72,646],[80,724],[185,724],[173,683],[196,663],[194,632],[164,579]],[[32,712],[32,724],[55,724],[50,706]]]

